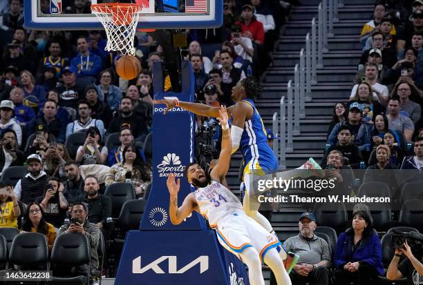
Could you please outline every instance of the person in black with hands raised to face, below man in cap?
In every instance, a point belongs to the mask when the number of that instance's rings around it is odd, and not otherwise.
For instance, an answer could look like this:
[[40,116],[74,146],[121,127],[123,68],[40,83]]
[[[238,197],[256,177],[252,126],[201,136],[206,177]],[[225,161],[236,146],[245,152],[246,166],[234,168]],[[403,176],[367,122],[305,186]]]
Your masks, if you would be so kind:
[[44,210],[44,219],[55,228],[62,226],[66,218],[68,201],[63,195],[64,186],[56,177],[50,177],[44,187],[44,196],[37,198],[37,202]]

